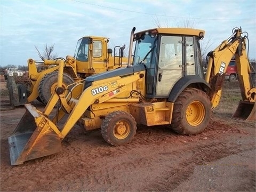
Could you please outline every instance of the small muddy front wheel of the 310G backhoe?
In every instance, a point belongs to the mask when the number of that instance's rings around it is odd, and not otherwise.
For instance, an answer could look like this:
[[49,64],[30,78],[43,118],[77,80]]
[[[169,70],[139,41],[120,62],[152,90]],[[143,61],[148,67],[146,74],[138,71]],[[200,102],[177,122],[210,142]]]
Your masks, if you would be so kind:
[[110,145],[120,146],[132,141],[137,126],[134,117],[124,111],[114,111],[102,121],[101,134]]

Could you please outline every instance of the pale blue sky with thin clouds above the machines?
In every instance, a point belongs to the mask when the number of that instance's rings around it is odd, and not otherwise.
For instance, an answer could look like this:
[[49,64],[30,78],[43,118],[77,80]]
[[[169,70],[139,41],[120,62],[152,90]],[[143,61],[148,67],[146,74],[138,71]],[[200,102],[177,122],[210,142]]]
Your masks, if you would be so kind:
[[[109,38],[109,48],[126,45],[130,34],[157,27],[205,30],[202,41],[212,51],[232,35],[246,31],[249,59],[256,58],[256,1],[4,1],[0,0],[0,66],[27,66],[40,60],[44,46],[54,45],[58,57],[74,55],[83,36]],[[246,34],[246,33],[245,33]]]

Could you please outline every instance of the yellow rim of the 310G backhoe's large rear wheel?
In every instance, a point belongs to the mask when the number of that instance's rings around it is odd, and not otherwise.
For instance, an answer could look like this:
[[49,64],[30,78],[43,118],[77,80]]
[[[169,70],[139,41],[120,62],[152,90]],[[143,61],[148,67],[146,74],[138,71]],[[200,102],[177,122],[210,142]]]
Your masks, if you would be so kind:
[[186,110],[187,122],[191,126],[197,126],[204,120],[205,109],[203,103],[199,101],[193,101],[189,104]]

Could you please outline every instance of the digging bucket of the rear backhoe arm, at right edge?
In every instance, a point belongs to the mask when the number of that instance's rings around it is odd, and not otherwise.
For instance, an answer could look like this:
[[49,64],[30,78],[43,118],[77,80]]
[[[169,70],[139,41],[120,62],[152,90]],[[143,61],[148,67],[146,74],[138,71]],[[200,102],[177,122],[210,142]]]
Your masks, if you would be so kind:
[[233,114],[233,118],[239,118],[248,121],[256,120],[256,105],[255,102],[239,101],[239,105]]

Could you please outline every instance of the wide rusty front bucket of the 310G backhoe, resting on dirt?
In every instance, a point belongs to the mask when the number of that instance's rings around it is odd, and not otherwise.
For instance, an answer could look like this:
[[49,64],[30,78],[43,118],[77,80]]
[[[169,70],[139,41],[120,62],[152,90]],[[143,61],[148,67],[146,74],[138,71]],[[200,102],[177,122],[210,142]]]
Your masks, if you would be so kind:
[[11,165],[20,165],[61,150],[62,135],[56,125],[30,103],[25,107],[26,113],[8,138]]

